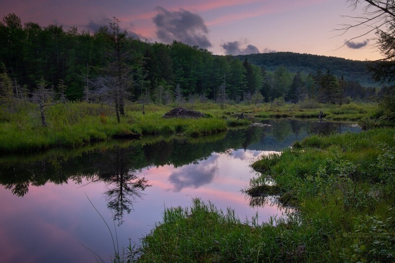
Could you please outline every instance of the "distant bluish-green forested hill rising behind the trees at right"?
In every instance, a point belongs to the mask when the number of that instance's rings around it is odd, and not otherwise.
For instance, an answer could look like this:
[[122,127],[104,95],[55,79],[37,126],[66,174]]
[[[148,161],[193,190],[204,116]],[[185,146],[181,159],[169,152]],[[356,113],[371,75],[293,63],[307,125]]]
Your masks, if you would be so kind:
[[275,71],[278,66],[285,66],[289,71],[298,71],[315,74],[317,70],[323,73],[329,69],[330,73],[346,80],[357,81],[362,86],[377,86],[377,82],[368,73],[368,61],[356,61],[338,57],[318,56],[311,54],[300,54],[293,52],[261,53],[250,55],[239,55],[237,59],[264,67],[266,70]]

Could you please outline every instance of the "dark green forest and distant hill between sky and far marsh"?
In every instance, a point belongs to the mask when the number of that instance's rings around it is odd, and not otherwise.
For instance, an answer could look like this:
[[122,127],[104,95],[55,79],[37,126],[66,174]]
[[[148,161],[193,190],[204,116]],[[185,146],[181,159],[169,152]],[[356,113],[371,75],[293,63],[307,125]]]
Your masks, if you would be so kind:
[[367,76],[356,77],[364,62],[280,52],[216,56],[179,41],[132,38],[120,30],[116,18],[91,33],[53,24],[22,25],[19,17],[8,14],[0,23],[0,46],[1,97],[32,97],[38,87],[41,97],[47,89],[52,99],[121,105],[124,100],[166,104],[225,98],[249,103],[279,97],[342,104],[346,98],[361,101],[377,95]]

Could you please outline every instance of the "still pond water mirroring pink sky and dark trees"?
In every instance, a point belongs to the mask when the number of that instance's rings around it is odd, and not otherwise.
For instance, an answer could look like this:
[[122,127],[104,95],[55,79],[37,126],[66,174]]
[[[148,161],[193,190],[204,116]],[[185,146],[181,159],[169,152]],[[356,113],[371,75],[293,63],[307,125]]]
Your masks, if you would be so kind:
[[[249,164],[316,133],[359,132],[346,123],[270,120],[214,136],[112,141],[80,149],[0,156],[1,262],[106,262],[114,245],[140,244],[165,208],[192,198],[235,209],[240,219],[280,217],[240,190]],[[100,212],[100,215],[95,211]],[[89,251],[91,250],[91,251]]]

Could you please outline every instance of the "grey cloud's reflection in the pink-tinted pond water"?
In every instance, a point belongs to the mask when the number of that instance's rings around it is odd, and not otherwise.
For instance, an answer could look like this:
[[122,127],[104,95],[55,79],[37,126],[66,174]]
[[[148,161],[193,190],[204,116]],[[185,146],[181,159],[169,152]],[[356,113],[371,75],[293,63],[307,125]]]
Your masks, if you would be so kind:
[[217,166],[211,165],[188,165],[170,175],[169,181],[174,185],[175,192],[188,187],[199,188],[214,179],[217,169]]

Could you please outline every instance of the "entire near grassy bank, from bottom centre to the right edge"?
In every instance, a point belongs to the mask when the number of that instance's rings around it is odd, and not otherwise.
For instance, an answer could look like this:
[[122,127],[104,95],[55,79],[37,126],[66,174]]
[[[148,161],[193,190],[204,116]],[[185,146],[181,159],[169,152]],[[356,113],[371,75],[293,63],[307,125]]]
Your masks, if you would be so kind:
[[191,208],[164,212],[163,222],[143,239],[139,260],[393,261],[394,139],[389,128],[312,136],[280,156],[262,157],[252,164],[262,175],[246,190],[257,194],[274,181],[280,199],[296,206],[297,214],[264,224],[241,222],[232,210],[195,199]]

